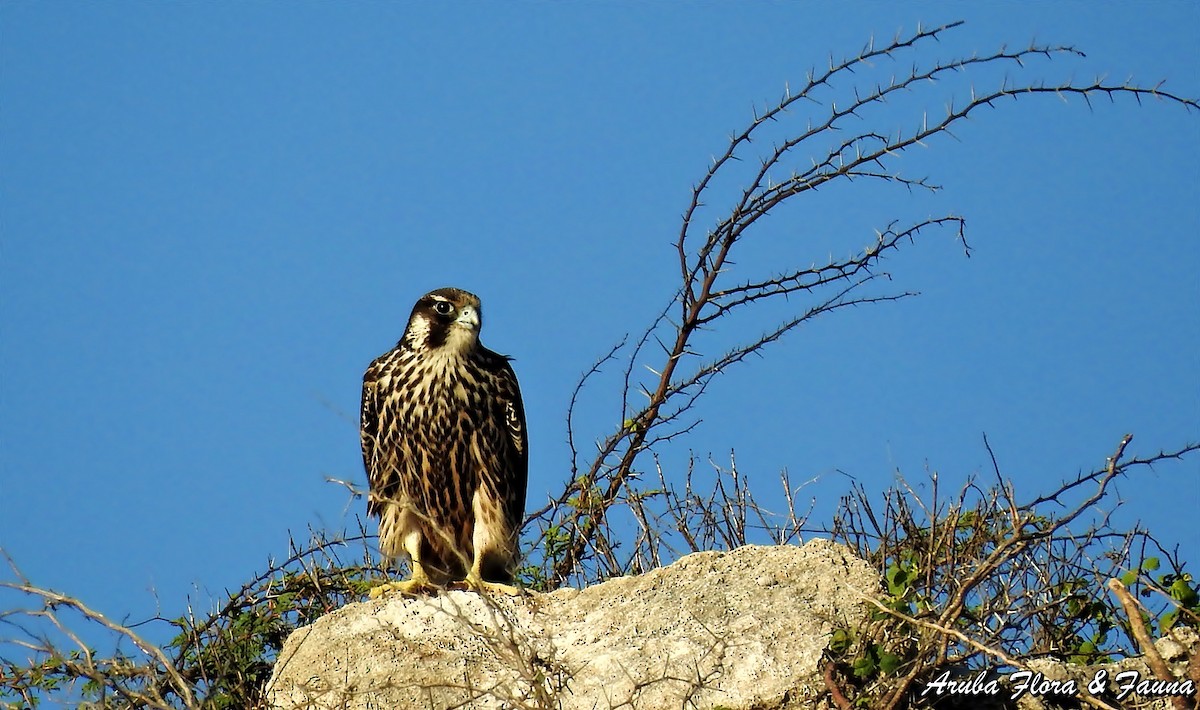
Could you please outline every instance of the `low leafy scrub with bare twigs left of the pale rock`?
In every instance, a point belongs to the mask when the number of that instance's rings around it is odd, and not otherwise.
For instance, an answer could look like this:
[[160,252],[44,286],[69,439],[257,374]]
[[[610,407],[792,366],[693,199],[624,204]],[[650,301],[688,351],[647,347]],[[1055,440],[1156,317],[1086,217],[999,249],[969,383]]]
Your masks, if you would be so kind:
[[[229,595],[226,603],[199,619],[191,609],[180,619],[151,619],[157,631],[175,633],[174,640],[155,645],[133,626],[118,624],[76,597],[38,588],[25,579],[10,560],[14,582],[7,589],[40,602],[40,608],[0,612],[0,645],[24,648],[31,660],[20,663],[0,656],[0,699],[20,698],[37,706],[47,688],[59,702],[71,693],[98,697],[102,708],[200,708],[259,706],[263,685],[274,654],[298,625],[361,598],[379,570],[368,564],[368,536],[326,537],[314,532],[305,544],[292,542],[286,560],[272,560],[263,574]],[[346,560],[338,550],[358,543],[362,561]],[[72,622],[64,612],[74,612],[86,622],[112,632],[118,648],[95,651],[85,640],[85,625]],[[67,643],[52,636],[61,634]],[[132,643],[138,654],[121,649]],[[85,681],[79,686],[77,681]],[[106,703],[106,698],[120,703]],[[5,705],[7,706],[7,705]]]

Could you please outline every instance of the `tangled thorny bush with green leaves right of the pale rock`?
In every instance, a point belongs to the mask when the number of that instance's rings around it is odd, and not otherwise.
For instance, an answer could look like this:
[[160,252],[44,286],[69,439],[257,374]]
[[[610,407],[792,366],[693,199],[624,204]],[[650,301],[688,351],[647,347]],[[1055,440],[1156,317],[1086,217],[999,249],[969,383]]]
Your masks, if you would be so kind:
[[[1013,499],[995,463],[991,488],[968,482],[950,499],[941,494],[934,474],[924,497],[901,482],[905,492],[889,493],[883,511],[874,510],[863,491],[842,500],[833,537],[875,564],[889,584],[902,580],[889,586],[890,598],[870,601],[899,622],[877,621],[859,638],[860,649],[884,649],[905,661],[886,692],[874,696],[878,702],[872,706],[904,706],[919,680],[968,668],[980,654],[1014,669],[1045,654],[1076,662],[1097,660],[1087,652],[1103,655],[1097,646],[1086,651],[1080,645],[1122,626],[1103,603],[1099,584],[1139,559],[1133,541],[1152,538],[1140,528],[1114,531],[1108,513],[1097,507],[1112,500],[1117,479],[1200,452],[1200,444],[1189,444],[1127,459],[1130,440],[1122,438],[1103,467],[1028,503]],[[1064,510],[1048,512],[1051,504]],[[1072,532],[1085,515],[1094,522],[1082,534]],[[1145,644],[1139,622],[1140,614],[1130,619],[1134,626],[1123,626],[1128,638],[1140,633],[1139,644]]]

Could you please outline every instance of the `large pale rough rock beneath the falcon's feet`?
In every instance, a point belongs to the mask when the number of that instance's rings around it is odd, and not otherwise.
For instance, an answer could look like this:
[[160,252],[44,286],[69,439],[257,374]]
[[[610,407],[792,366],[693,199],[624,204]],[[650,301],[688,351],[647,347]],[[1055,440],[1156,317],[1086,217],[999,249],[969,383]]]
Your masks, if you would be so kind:
[[811,708],[878,577],[847,548],[742,547],[521,598],[348,604],[296,630],[270,708]]

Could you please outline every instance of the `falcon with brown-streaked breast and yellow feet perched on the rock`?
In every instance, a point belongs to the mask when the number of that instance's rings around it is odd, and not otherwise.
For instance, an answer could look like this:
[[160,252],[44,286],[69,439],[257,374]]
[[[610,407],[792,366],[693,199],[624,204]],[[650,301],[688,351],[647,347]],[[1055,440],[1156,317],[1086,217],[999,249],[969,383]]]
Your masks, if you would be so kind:
[[509,357],[482,345],[479,297],[421,296],[396,347],[362,377],[367,513],[386,561],[412,578],[371,590],[512,586],[529,469],[524,407]]

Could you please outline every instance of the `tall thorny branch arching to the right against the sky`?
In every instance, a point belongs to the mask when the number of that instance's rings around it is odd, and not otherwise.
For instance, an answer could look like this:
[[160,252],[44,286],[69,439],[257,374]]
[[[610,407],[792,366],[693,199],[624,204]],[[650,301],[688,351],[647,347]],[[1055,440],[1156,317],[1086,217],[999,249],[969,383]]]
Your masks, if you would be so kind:
[[[889,252],[913,243],[924,231],[952,228],[970,255],[965,219],[944,215],[905,227],[892,222],[866,247],[841,259],[830,258],[824,265],[791,266],[770,276],[734,276],[738,270],[733,257],[738,245],[754,239],[754,228],[764,217],[785,203],[838,181],[865,179],[905,189],[936,191],[938,186],[928,179],[905,176],[898,166],[900,160],[913,146],[926,146],[941,134],[953,136],[953,126],[979,109],[995,108],[1002,98],[1022,100],[1044,95],[1064,100],[1078,96],[1091,106],[1096,96],[1110,100],[1127,96],[1139,103],[1142,98],[1153,97],[1188,110],[1200,108],[1196,101],[1165,91],[1160,84],[1141,86],[1103,79],[1082,83],[1072,79],[1060,84],[1040,80],[1019,83],[1006,77],[990,91],[971,89],[966,97],[950,94],[944,114],[932,119],[926,112],[916,128],[862,128],[868,120],[868,109],[880,108],[901,92],[936,92],[940,83],[950,76],[970,74],[985,67],[1010,66],[1021,71],[1026,62],[1037,58],[1084,56],[1072,47],[1031,44],[1025,49],[1001,48],[991,54],[937,61],[928,68],[913,65],[905,74],[888,82],[860,83],[857,70],[874,67],[876,62],[898,62],[907,52],[937,42],[960,24],[918,28],[882,46],[872,41],[850,59],[830,61],[827,68],[809,72],[803,86],[787,89],[774,106],[756,112],[750,124],[732,136],[725,151],[713,160],[683,212],[674,241],[680,282],[672,299],[631,345],[623,341],[601,357],[581,378],[572,395],[568,411],[571,480],[526,523],[536,523],[542,540],[553,537],[556,541],[553,546],[546,546],[542,562],[547,586],[558,586],[571,579],[605,578],[631,568],[634,558],[644,550],[616,554],[620,541],[608,538],[606,521],[611,512],[628,505],[628,501],[646,500],[646,491],[640,491],[636,483],[640,461],[647,452],[698,423],[695,407],[715,377],[750,355],[762,354],[769,344],[818,315],[916,295],[908,291],[881,293],[870,290],[870,287],[888,278],[887,273],[876,271],[882,259]],[[839,102],[827,97],[836,91],[847,98]],[[792,113],[802,110],[808,115],[803,130],[792,132],[772,148],[755,151],[756,139],[764,136],[766,126],[793,120]],[[836,138],[844,134],[847,138]],[[805,157],[809,158],[808,166],[802,168],[799,163]],[[707,204],[720,197],[718,182],[736,179],[730,178],[733,166],[754,158],[758,166],[743,182],[732,206],[700,234],[703,229],[700,221],[707,213]],[[722,355],[704,355],[706,338],[710,338],[718,329],[730,332],[738,323],[752,319],[762,311],[763,303],[791,302],[792,299],[798,303],[794,317],[778,323],[758,337],[744,339]],[[750,306],[760,308],[748,308]],[[646,362],[652,353],[647,345],[652,343],[661,351],[653,366]],[[595,453],[582,463],[575,426],[578,396],[583,386],[600,374],[602,366],[618,357],[624,357],[619,416],[611,433],[596,441]],[[642,368],[652,377],[641,374]],[[644,510],[637,515],[644,515]]]

